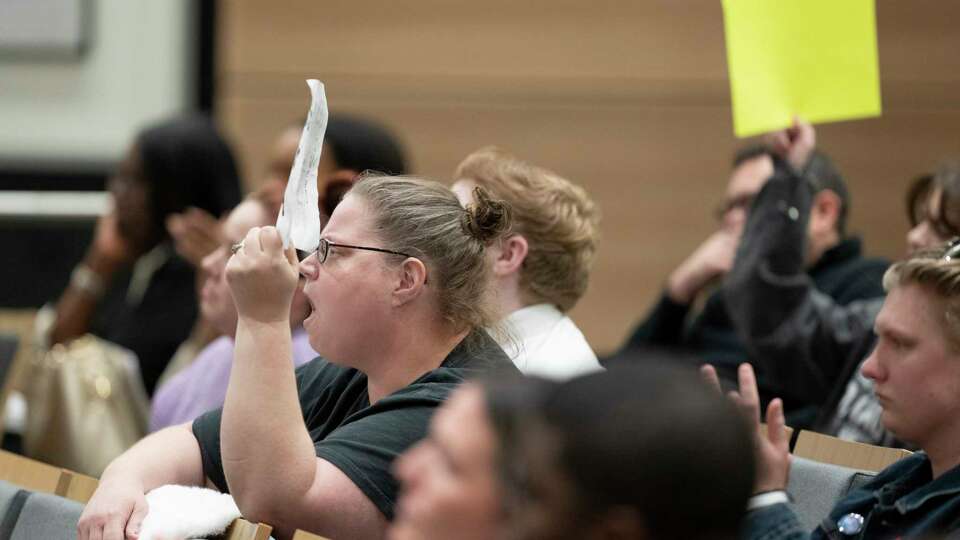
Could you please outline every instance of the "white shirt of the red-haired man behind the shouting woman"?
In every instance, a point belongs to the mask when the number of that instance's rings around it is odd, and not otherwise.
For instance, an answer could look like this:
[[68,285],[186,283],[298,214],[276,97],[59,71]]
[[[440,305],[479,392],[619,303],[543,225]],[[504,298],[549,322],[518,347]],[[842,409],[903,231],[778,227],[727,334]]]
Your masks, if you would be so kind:
[[603,369],[577,325],[552,304],[518,309],[503,326],[497,341],[524,375],[564,380]]

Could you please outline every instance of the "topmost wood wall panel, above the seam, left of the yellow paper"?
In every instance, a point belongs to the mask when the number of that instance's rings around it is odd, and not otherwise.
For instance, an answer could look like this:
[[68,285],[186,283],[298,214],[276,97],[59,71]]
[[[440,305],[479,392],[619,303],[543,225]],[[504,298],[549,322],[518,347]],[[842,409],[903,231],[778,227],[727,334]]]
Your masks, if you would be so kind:
[[230,40],[222,60],[231,71],[704,79],[723,78],[726,69],[722,49],[703,48],[723,39],[713,1],[222,5]]

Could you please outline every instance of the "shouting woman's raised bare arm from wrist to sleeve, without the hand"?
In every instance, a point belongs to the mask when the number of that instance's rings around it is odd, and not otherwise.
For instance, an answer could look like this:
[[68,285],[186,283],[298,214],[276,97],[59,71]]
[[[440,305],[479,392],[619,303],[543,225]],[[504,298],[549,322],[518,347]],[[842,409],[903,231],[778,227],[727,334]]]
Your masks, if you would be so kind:
[[244,517],[282,536],[378,538],[386,519],[340,469],[316,457],[300,409],[284,323],[241,321],[223,408],[223,469]]

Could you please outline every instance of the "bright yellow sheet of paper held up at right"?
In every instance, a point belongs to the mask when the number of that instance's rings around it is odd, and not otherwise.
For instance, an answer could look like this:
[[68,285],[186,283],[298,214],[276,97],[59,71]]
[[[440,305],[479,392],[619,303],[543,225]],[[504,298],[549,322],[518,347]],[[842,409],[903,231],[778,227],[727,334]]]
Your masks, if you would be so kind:
[[880,115],[874,0],[723,0],[733,131]]

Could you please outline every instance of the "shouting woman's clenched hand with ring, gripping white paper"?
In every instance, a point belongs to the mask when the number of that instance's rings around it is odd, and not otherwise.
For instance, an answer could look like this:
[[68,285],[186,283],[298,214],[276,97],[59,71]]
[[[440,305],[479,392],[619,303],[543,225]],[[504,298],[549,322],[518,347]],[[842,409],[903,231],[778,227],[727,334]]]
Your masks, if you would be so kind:
[[284,251],[275,227],[250,229],[227,261],[226,276],[241,320],[289,322],[300,272],[296,251]]

